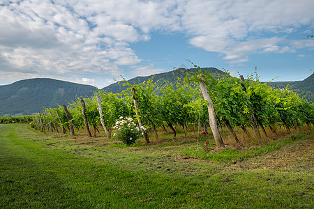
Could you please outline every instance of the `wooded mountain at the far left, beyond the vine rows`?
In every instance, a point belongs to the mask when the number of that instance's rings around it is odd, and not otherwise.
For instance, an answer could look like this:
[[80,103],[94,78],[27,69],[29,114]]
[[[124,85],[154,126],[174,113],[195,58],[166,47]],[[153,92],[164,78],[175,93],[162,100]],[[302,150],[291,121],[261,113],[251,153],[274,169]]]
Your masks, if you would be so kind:
[[26,79],[0,86],[0,116],[30,115],[45,107],[68,104],[76,96],[91,97],[94,86],[63,82],[55,79]]

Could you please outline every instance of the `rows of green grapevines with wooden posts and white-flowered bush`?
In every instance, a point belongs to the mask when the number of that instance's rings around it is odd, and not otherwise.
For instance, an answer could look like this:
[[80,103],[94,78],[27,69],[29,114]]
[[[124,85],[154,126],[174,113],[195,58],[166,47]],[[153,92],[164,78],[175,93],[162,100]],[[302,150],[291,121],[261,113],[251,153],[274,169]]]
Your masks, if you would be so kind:
[[[124,81],[123,85],[128,88],[122,93],[97,91],[92,98],[77,98],[36,116],[2,117],[0,122],[31,123],[36,129],[70,132],[73,137],[85,130],[88,137],[105,134],[107,139],[128,145],[143,140],[148,144],[169,132],[172,139],[181,132],[184,138],[197,140],[209,133],[214,134],[217,147],[225,147],[223,130],[231,137],[227,144],[246,146],[243,138],[258,141],[269,137],[267,130],[276,136],[278,130],[311,129],[314,123],[313,104],[288,88],[261,84],[257,75],[215,79],[200,68],[176,84],[149,79],[138,85]],[[125,118],[132,123],[117,127]]]

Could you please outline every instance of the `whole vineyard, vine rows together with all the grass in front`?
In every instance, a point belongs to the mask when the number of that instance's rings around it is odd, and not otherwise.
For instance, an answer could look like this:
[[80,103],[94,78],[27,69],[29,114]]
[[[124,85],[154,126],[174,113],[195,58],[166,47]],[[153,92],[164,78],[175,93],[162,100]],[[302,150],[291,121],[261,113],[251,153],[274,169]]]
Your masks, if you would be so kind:
[[1,117],[0,208],[313,208],[313,104],[253,75],[124,84]]

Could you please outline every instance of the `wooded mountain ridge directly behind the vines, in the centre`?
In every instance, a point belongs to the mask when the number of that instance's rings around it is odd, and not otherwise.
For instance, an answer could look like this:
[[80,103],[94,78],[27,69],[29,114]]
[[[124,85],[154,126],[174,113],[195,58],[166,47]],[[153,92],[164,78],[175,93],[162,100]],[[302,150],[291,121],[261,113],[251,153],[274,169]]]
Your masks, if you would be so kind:
[[[221,75],[226,75],[225,72],[218,70],[217,68],[202,68],[203,71],[210,72],[211,75],[214,75],[215,78],[220,77]],[[190,69],[185,69],[185,68],[179,68],[177,70],[172,70],[170,72],[163,72],[155,75],[149,75],[149,76],[139,76],[135,77],[133,79],[128,80],[130,84],[140,84],[142,82],[147,81],[148,79],[153,80],[154,82],[157,82],[158,80],[164,80],[169,83],[176,83],[178,82],[177,77],[184,78],[186,77],[186,72],[198,72],[198,68],[190,68]],[[107,92],[112,92],[112,93],[121,93],[121,91],[124,91],[128,88],[128,86],[122,86],[121,84],[124,84],[125,82],[121,82],[120,84],[114,83],[110,84],[109,86],[106,86],[102,90],[107,91]],[[161,82],[162,84],[162,82]]]

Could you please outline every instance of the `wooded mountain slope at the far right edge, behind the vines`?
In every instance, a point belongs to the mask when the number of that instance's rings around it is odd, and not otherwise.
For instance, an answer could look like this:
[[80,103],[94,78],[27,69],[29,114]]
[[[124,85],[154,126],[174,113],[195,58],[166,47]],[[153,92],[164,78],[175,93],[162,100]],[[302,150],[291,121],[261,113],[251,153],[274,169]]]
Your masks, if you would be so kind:
[[288,88],[291,91],[297,93],[300,98],[304,98],[311,103],[314,102],[314,73],[312,73],[312,75],[310,75],[303,81],[271,82],[269,85],[271,85],[273,88],[285,88],[286,86],[288,86]]

